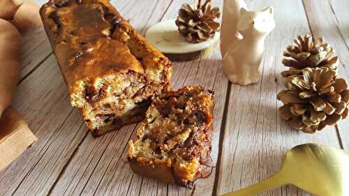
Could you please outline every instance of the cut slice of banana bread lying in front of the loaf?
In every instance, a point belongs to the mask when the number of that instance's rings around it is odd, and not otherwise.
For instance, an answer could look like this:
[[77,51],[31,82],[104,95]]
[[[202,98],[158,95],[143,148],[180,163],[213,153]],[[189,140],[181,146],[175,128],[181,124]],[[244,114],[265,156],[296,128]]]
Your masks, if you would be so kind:
[[212,97],[201,86],[186,86],[154,98],[137,138],[128,142],[133,171],[192,188],[211,160]]

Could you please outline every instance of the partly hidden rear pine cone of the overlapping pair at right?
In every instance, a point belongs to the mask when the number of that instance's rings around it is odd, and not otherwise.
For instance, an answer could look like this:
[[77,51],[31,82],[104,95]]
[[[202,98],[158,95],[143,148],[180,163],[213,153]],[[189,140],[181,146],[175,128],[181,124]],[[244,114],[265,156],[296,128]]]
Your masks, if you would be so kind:
[[290,70],[283,71],[281,75],[288,77],[290,75],[302,74],[304,68],[327,67],[336,70],[338,56],[334,54],[334,49],[327,43],[323,43],[324,38],[314,38],[306,34],[304,37],[298,36],[294,40],[296,45],[289,45],[283,56],[292,59],[283,59],[284,66],[290,67]]

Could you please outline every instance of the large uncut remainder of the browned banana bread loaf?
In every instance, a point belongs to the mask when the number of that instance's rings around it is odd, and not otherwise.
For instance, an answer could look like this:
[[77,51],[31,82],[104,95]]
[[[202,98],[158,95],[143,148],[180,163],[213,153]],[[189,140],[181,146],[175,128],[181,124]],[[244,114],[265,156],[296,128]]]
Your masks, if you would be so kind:
[[144,119],[170,90],[172,63],[107,0],[51,0],[40,9],[71,104],[95,136]]

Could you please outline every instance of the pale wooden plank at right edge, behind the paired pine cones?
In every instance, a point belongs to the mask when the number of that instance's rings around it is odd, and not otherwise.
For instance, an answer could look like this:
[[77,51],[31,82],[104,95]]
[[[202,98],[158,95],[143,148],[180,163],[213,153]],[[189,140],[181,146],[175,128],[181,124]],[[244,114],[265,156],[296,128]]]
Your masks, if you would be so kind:
[[[313,2],[304,0],[314,36],[323,36],[339,56],[339,77],[349,82],[349,2],[346,0]],[[337,126],[343,149],[349,149],[349,118]]]

